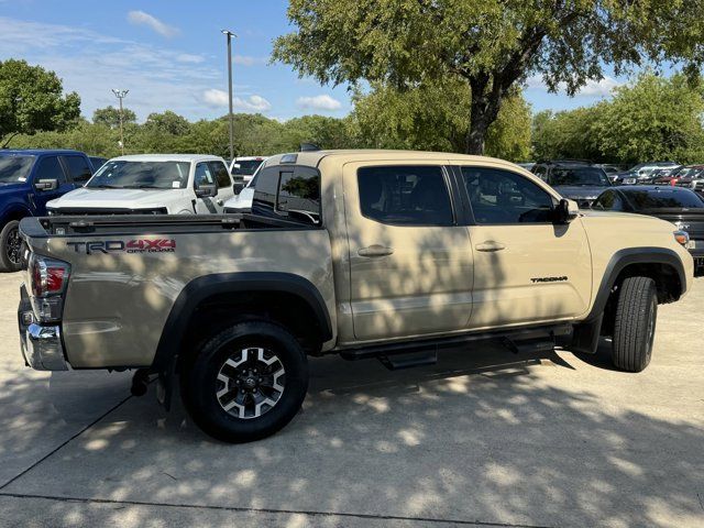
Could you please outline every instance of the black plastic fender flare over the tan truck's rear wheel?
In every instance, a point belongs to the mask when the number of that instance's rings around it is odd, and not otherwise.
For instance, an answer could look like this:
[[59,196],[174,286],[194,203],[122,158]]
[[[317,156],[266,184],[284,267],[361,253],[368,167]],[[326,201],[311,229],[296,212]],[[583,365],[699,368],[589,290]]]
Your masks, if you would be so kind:
[[185,338],[188,321],[202,301],[215,295],[238,295],[246,292],[286,293],[301,298],[311,308],[322,330],[322,341],[332,339],[332,323],[324,300],[318,288],[300,275],[279,272],[204,275],[188,283],[172,306],[150,370],[162,372],[169,367],[169,363],[173,363],[170,360],[177,355],[179,344]]

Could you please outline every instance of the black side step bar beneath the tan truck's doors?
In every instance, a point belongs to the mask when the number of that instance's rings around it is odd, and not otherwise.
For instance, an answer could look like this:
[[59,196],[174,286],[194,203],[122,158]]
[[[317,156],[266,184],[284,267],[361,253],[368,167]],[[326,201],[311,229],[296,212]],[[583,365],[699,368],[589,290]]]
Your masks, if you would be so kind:
[[[393,342],[385,344],[373,344],[345,349],[340,352],[340,356],[348,361],[382,359],[385,366],[396,366],[395,369],[406,369],[420,364],[431,364],[430,356],[436,358],[437,352],[442,349],[458,349],[466,344],[482,341],[498,341],[504,343],[515,353],[539,352],[552,350],[556,345],[556,338],[569,336],[572,332],[572,324],[560,324],[550,327],[524,328],[502,332],[476,332],[462,336],[450,336],[440,339],[425,339],[417,341]],[[409,355],[425,353],[421,359],[409,359],[391,361],[393,355]],[[413,364],[411,364],[413,363]],[[435,363],[435,361],[433,361]],[[408,365],[408,366],[405,366]]]

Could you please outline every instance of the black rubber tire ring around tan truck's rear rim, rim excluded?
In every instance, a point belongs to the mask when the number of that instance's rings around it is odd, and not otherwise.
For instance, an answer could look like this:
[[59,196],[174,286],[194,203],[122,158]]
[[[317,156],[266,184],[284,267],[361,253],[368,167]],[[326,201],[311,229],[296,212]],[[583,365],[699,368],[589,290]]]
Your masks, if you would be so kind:
[[[258,418],[241,419],[218,402],[217,377],[224,362],[244,348],[270,349],[286,372],[284,392],[274,407]],[[296,339],[283,327],[246,321],[207,341],[182,373],[184,403],[194,421],[208,435],[227,442],[257,440],[285,427],[298,413],[308,391],[308,362]]]

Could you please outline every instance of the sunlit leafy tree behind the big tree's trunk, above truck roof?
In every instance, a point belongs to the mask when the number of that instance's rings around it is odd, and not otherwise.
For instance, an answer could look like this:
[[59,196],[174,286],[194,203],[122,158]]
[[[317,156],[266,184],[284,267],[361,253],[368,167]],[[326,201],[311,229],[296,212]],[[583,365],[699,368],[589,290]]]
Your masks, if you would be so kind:
[[[356,90],[350,117],[356,146],[463,152],[470,128],[470,88],[458,78],[407,90],[376,82]],[[530,151],[530,109],[522,96],[506,99],[488,130],[487,154],[520,161]]]

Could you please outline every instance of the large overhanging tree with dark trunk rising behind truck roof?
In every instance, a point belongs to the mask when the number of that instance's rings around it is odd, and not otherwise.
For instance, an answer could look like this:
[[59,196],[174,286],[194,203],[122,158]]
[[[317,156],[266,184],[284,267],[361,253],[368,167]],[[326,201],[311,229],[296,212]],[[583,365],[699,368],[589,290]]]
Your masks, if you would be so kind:
[[273,59],[320,82],[468,84],[475,154],[529,75],[573,95],[605,65],[681,62],[694,74],[704,57],[704,0],[290,0],[288,19],[297,30]]

